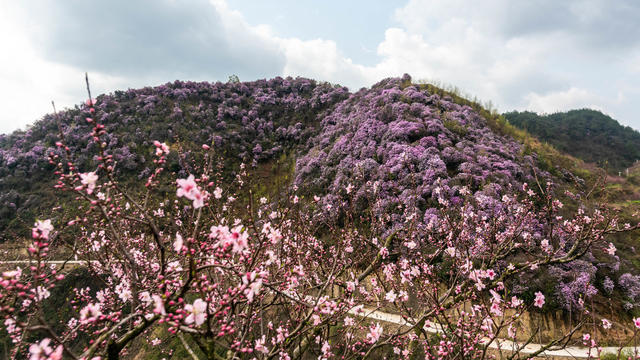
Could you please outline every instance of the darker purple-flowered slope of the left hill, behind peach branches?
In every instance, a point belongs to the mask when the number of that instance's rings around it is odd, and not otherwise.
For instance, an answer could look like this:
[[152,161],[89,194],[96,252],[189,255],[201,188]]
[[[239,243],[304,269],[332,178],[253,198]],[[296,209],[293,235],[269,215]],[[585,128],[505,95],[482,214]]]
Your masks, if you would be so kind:
[[[228,166],[269,161],[304,144],[322,112],[344,99],[344,87],[303,78],[246,83],[175,81],[157,87],[99,96],[96,120],[100,139],[121,178],[149,175],[152,140],[165,141],[184,154],[211,144],[224,152]],[[44,116],[26,131],[0,135],[0,230],[24,231],[48,203],[52,168],[48,155],[61,155],[61,139],[82,171],[91,171],[98,143],[93,123],[81,107]],[[169,168],[183,176],[192,163],[172,155]],[[30,194],[30,195],[27,195]],[[33,204],[41,204],[38,209]],[[21,227],[22,226],[22,227]],[[8,236],[8,235],[7,235]],[[9,236],[8,236],[9,237]]]

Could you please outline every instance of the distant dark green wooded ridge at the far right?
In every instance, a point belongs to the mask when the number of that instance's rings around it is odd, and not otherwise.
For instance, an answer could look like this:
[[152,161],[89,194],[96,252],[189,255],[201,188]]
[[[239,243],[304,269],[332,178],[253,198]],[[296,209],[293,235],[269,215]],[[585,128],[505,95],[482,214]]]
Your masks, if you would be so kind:
[[623,171],[640,160],[640,133],[591,109],[549,115],[508,112],[504,117],[557,149],[608,171]]

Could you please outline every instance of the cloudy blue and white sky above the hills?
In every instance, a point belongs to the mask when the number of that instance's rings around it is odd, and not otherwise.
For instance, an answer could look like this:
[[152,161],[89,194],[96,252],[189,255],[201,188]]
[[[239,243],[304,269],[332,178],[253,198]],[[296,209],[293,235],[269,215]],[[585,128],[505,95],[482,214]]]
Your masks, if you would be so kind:
[[402,76],[497,110],[600,110],[640,129],[635,0],[0,0],[0,133],[176,79]]

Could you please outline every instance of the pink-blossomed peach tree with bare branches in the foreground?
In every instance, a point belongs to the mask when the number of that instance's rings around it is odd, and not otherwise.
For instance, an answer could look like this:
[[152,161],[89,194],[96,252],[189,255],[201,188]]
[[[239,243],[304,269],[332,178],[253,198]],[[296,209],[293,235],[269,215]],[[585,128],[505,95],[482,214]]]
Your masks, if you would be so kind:
[[[389,231],[348,207],[325,217],[332,209],[296,187],[257,199],[251,171],[241,165],[229,179],[215,143],[179,178],[166,169],[179,149],[156,141],[144,189],[125,188],[89,98],[97,167],[79,170],[64,139],[50,154],[56,188],[76,196],[81,215],[38,221],[28,264],[2,273],[14,358],[118,359],[136,342],[167,342],[162,332],[194,359],[485,358],[500,338],[521,341],[517,354],[535,335],[520,316],[546,297],[514,294],[514,279],[592,250],[611,256],[606,236],[635,229],[599,208],[561,215],[552,185],[536,182],[491,204],[466,188],[452,199],[436,183],[429,216],[409,210]],[[52,262],[53,247],[69,261]],[[52,322],[52,292],[79,269],[93,285],[74,285],[68,318]]]

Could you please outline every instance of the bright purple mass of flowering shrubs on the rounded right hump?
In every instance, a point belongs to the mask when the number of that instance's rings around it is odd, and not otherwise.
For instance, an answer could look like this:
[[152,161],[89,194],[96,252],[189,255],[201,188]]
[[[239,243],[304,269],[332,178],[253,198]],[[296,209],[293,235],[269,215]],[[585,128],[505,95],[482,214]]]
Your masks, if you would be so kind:
[[410,214],[425,216],[440,199],[457,201],[463,187],[490,208],[532,180],[524,165],[532,159],[518,143],[492,132],[469,106],[406,82],[384,80],[329,112],[297,162],[296,184],[324,191],[332,209],[353,197],[388,217],[391,230]]

